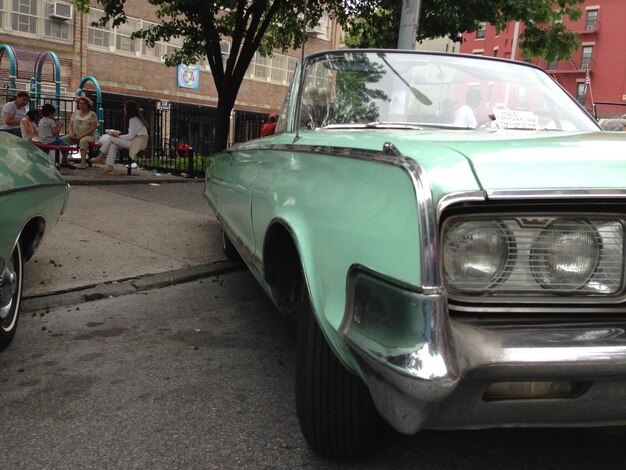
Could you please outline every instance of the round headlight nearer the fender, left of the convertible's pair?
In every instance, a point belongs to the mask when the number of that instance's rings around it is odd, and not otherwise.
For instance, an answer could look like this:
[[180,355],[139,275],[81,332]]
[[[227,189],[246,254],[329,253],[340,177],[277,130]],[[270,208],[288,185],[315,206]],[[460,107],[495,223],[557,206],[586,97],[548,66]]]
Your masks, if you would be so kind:
[[480,290],[498,281],[509,259],[506,229],[489,220],[458,222],[447,230],[443,264],[448,286]]

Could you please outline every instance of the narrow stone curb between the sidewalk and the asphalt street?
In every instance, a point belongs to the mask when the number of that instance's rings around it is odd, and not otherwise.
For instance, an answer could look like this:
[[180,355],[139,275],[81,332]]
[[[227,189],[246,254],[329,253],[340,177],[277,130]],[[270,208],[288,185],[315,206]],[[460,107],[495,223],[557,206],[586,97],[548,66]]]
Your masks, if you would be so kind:
[[158,289],[161,287],[183,284],[206,277],[240,271],[242,263],[233,261],[216,261],[214,263],[192,266],[158,274],[146,274],[120,281],[111,281],[97,286],[79,287],[71,291],[55,292],[42,296],[25,297],[22,299],[22,313],[33,313],[39,310],[64,307],[68,305],[91,302],[93,300],[119,297],[136,292]]

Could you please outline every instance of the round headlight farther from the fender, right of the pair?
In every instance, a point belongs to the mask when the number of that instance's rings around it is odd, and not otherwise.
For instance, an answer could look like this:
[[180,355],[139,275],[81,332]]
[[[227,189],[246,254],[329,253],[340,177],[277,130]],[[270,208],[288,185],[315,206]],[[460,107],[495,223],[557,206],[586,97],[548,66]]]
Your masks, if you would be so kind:
[[589,223],[554,221],[533,241],[530,267],[545,289],[559,291],[583,287],[600,260],[599,235]]

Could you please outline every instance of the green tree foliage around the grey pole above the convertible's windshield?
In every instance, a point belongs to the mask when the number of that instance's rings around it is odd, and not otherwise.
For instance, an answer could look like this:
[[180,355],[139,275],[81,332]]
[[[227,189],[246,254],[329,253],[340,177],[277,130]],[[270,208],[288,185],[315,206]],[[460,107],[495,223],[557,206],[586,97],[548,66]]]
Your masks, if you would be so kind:
[[[462,32],[476,31],[486,21],[504,29],[510,21],[525,23],[520,49],[527,57],[548,61],[567,59],[578,47],[576,35],[568,32],[564,17],[578,20],[583,0],[422,0],[417,40],[448,37],[459,40]],[[395,48],[398,42],[402,2],[368,2],[359,18],[347,29],[350,47]]]

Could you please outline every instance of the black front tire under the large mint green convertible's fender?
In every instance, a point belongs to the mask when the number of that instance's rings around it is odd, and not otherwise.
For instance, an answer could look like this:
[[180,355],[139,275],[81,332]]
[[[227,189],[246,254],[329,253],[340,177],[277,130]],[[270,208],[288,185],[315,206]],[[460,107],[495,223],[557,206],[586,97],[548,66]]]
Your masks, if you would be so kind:
[[309,446],[330,458],[360,458],[379,441],[382,420],[363,381],[328,345],[304,289],[298,318],[296,410]]

